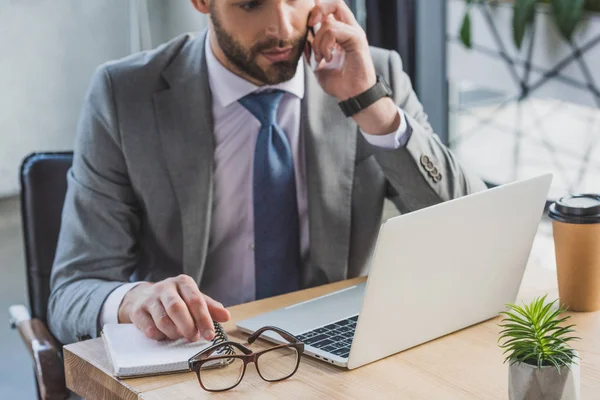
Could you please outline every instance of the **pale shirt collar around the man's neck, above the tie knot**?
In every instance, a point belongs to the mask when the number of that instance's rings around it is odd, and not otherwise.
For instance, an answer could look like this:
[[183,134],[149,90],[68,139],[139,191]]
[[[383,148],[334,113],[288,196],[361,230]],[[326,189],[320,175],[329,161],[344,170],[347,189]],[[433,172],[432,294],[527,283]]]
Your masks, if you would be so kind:
[[221,107],[227,107],[253,92],[262,92],[269,89],[278,89],[304,98],[304,63],[298,62],[296,75],[286,82],[277,85],[256,86],[229,71],[221,64],[210,47],[210,33],[206,35],[205,53],[208,66],[208,77],[213,101]]

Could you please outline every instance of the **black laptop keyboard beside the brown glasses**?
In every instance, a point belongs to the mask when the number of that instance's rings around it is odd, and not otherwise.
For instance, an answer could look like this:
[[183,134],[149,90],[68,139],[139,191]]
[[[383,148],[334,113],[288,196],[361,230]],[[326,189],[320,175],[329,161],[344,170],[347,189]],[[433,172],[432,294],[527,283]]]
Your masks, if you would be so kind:
[[356,329],[358,315],[336,321],[298,336],[298,339],[317,349],[347,358]]

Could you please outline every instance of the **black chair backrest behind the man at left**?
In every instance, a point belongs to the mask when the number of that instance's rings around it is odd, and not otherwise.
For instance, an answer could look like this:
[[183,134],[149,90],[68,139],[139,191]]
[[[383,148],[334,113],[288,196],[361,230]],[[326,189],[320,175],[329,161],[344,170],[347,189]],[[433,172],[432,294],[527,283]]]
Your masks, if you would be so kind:
[[56,253],[73,153],[34,153],[21,164],[21,216],[31,315],[46,322],[50,272]]

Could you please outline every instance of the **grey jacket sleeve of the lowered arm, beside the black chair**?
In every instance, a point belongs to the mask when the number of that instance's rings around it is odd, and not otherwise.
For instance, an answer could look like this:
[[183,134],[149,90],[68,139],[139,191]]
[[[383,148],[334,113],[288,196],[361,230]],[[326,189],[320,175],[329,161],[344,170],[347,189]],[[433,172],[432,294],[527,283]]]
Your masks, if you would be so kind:
[[104,300],[129,280],[138,258],[139,206],[106,67],[86,95],[67,182],[48,303],[49,327],[64,344],[98,335]]

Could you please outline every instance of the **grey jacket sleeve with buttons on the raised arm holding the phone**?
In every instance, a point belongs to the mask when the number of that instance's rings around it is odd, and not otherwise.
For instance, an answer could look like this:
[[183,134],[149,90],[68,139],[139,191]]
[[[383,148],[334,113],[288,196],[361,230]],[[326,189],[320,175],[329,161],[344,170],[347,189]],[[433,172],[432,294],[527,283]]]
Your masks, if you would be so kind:
[[402,69],[400,55],[382,50],[373,55],[378,73],[390,83],[410,130],[403,147],[371,149],[388,181],[390,200],[404,213],[485,190],[483,181],[460,165],[433,132],[410,78]]

